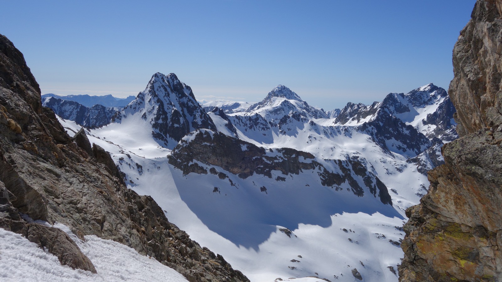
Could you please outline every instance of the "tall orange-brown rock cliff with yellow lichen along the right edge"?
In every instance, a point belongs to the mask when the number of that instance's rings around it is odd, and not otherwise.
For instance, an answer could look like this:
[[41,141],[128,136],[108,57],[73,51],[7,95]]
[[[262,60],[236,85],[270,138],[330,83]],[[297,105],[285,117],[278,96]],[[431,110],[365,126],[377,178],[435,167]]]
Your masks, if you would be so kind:
[[459,139],[407,210],[400,281],[502,281],[502,1],[478,0],[453,50]]

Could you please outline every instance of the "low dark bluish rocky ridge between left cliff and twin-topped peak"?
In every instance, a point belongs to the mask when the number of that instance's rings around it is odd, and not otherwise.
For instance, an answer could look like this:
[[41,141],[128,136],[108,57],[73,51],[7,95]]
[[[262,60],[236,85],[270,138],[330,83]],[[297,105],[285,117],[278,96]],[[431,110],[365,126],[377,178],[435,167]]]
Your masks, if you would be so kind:
[[105,107],[99,104],[86,107],[78,102],[56,97],[43,99],[42,105],[51,108],[60,117],[73,120],[87,128],[100,127],[110,123],[113,116],[121,110],[121,108]]

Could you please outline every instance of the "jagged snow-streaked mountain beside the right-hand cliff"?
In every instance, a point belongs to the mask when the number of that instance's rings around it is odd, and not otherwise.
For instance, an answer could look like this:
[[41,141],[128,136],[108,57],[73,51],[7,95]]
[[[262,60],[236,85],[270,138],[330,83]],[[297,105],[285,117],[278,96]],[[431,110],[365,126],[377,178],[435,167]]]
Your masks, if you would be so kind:
[[[429,113],[418,120],[424,111]],[[438,147],[458,137],[454,113],[447,92],[430,83],[407,94],[390,93],[369,106],[347,103],[335,124],[355,126],[387,153],[410,158],[409,163],[425,174],[444,163],[441,155],[434,154]]]

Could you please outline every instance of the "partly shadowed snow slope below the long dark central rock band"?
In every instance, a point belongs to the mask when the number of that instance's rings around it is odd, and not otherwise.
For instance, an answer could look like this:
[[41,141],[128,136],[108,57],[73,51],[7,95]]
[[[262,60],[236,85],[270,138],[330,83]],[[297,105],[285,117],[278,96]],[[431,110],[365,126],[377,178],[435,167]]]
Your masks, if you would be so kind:
[[[75,127],[71,121],[61,121],[66,127]],[[365,281],[397,281],[397,275],[388,267],[397,270],[403,256],[401,248],[390,241],[399,242],[404,237],[399,230],[405,220],[402,209],[355,197],[346,190],[319,189],[320,185],[314,184],[319,182],[317,175],[295,175],[285,182],[275,182],[275,176],[269,179],[255,175],[242,180],[230,175],[239,189],[228,182],[222,185],[211,174],[183,176],[168,164],[166,149],[159,148],[153,139],[147,142],[140,137],[141,142],[133,143],[130,150],[114,144],[121,139],[114,135],[118,131],[111,129],[113,126],[88,131],[88,137],[91,143],[111,153],[128,175],[128,187],[141,195],[151,195],[171,222],[202,246],[222,254],[250,280],[319,276],[331,281],[353,281],[351,270],[357,268]],[[96,133],[101,137],[93,136]],[[106,133],[109,135],[103,138]],[[134,144],[141,144],[141,148]],[[142,166],[143,172],[138,172],[136,164]],[[410,174],[420,177],[416,171]],[[403,176],[396,183],[407,181],[409,177]],[[267,187],[267,194],[260,192],[261,186]],[[219,192],[213,192],[214,187]],[[396,185],[402,195],[390,192],[393,201],[407,195],[405,188]],[[413,191],[409,194],[419,199]],[[291,230],[291,236],[281,231],[285,228]]]

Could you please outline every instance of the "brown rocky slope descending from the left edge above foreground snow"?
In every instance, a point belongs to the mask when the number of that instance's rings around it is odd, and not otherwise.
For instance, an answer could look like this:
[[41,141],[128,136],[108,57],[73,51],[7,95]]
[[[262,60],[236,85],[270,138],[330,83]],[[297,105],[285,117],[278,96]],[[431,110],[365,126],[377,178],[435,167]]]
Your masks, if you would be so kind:
[[23,55],[0,35],[0,227],[73,268],[96,272],[66,233],[33,220],[123,243],[189,281],[248,281],[170,223],[151,197],[127,189],[109,155],[83,130],[71,139],[40,98]]

